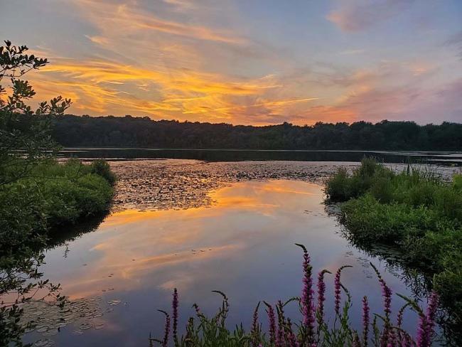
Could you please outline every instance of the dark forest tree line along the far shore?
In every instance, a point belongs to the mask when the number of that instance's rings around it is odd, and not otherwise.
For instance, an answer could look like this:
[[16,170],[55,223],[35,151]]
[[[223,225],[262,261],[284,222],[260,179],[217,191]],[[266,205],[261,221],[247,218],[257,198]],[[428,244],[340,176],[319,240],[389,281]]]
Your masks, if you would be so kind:
[[149,117],[60,115],[53,137],[67,147],[126,146],[189,149],[462,149],[462,124],[415,122],[284,124],[264,127],[200,122],[155,121]]

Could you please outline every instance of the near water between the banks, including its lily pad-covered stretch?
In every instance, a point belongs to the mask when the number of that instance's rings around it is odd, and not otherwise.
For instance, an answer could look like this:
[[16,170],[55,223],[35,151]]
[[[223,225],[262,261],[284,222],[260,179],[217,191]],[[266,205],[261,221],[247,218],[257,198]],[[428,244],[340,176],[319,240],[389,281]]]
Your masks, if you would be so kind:
[[[301,294],[301,250],[295,242],[306,245],[316,272],[353,266],[345,269],[342,282],[353,295],[355,326],[363,295],[372,312],[381,312],[380,284],[369,262],[394,292],[413,296],[402,270],[350,245],[323,204],[323,177],[338,164],[124,161],[112,166],[120,176],[114,212],[94,231],[46,252],[44,277],[62,284],[74,311],[57,331],[52,322],[57,311],[41,308],[41,333],[26,334],[26,341],[147,346],[149,333],[162,335],[163,316],[156,309],[170,309],[174,287],[182,328],[194,302],[208,314],[216,311],[220,297],[214,289],[230,297],[228,324],[242,321],[248,328],[259,300],[274,303]],[[142,208],[136,192],[149,201]],[[333,275],[327,284],[331,315]],[[394,312],[400,304],[396,297]],[[295,304],[286,311],[298,317]],[[263,309],[260,314],[264,317]],[[415,315],[405,317],[404,328],[414,331]]]

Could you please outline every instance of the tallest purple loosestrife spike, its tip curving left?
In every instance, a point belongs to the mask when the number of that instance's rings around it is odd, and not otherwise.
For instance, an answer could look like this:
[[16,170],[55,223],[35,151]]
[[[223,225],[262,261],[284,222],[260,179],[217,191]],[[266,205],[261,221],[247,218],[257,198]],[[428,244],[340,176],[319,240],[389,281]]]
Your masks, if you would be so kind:
[[314,339],[314,303],[313,303],[313,279],[311,274],[313,267],[310,265],[310,256],[304,245],[296,243],[303,250],[303,290],[301,295],[301,308],[303,313],[303,325],[308,333],[308,342]]

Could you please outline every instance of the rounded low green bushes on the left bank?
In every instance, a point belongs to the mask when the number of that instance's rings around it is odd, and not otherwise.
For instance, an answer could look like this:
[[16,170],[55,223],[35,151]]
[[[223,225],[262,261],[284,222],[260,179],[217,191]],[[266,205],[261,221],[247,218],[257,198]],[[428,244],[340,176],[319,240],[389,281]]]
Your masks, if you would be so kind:
[[[50,160],[24,171],[23,178],[0,187],[0,247],[16,245],[45,235],[60,225],[104,213],[112,198],[114,175],[104,161],[84,165],[77,160],[65,164]],[[6,176],[16,176],[16,172]],[[2,253],[3,253],[2,252]]]

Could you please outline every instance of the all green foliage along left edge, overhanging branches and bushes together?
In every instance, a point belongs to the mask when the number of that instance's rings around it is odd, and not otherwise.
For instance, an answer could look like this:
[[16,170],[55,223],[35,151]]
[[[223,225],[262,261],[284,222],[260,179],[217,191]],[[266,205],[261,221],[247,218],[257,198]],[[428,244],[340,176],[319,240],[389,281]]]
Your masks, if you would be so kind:
[[21,78],[48,60],[28,55],[26,46],[4,43],[0,46],[0,346],[22,346],[21,304],[37,299],[37,292],[62,299],[59,286],[41,279],[38,271],[48,231],[106,210],[114,175],[103,161],[91,166],[53,161],[58,145],[50,136],[50,122],[71,102],[58,96],[39,102],[36,109],[27,105],[36,92]]

